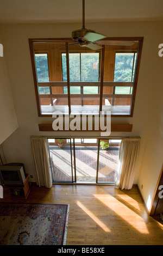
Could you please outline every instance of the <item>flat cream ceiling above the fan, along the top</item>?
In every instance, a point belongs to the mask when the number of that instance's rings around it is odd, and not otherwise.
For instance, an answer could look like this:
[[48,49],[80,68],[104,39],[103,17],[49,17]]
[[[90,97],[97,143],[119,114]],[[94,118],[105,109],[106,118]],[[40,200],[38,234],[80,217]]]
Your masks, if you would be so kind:
[[[162,0],[85,0],[85,22],[162,21]],[[0,0],[0,23],[82,23],[82,0]]]

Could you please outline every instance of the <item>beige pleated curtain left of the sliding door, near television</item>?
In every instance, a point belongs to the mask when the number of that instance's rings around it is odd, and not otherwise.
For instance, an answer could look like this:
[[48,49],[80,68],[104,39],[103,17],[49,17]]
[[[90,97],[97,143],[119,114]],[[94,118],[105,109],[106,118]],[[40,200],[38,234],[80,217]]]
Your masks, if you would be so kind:
[[52,187],[49,169],[48,145],[45,137],[30,137],[36,169],[36,183],[39,186]]

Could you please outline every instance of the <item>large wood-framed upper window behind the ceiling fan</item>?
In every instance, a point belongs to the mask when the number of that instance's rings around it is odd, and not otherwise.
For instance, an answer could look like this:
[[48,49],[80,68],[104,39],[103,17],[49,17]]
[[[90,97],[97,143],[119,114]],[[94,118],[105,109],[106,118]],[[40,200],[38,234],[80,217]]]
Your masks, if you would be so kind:
[[69,39],[29,39],[39,116],[108,111],[131,117],[143,39],[130,40],[130,46],[92,51]]

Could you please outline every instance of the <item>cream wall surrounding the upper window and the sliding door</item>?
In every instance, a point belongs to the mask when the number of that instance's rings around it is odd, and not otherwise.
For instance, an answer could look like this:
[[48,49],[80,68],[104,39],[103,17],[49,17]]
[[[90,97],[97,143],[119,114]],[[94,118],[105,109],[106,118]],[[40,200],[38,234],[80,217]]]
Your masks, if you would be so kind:
[[[133,124],[133,132],[114,132],[111,135],[141,137],[140,157],[134,183],[139,187],[143,184],[143,190],[140,190],[146,203],[149,196],[153,197],[162,164],[163,58],[158,56],[158,45],[163,42],[162,25],[163,22],[86,24],[87,28],[108,36],[144,37],[133,118],[112,118],[112,123]],[[39,132],[38,124],[50,123],[52,118],[37,116],[28,38],[71,37],[71,32],[80,27],[81,24],[1,25],[4,54],[19,125],[3,143],[3,150],[7,161],[22,161],[29,174],[34,174],[30,136],[62,136],[62,133]],[[64,132],[64,135],[66,134],[71,135]]]

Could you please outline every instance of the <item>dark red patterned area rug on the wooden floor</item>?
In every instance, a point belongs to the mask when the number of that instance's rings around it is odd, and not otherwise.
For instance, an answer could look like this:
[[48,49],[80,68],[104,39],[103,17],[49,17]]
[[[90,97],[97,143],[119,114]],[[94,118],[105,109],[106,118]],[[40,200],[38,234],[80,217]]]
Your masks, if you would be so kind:
[[66,245],[69,205],[0,204],[0,245]]

